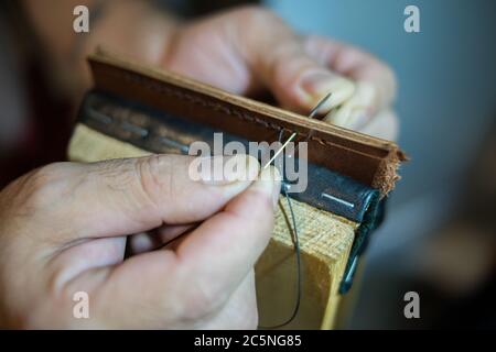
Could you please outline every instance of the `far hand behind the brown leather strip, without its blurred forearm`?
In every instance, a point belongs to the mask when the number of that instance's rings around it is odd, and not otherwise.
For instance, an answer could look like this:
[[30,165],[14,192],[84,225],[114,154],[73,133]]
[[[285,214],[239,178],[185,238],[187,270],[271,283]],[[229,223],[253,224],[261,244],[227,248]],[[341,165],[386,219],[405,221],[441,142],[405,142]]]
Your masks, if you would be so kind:
[[171,70],[239,95],[268,89],[281,106],[302,113],[332,92],[325,121],[396,139],[389,108],[396,82],[386,64],[344,43],[298,36],[263,8],[180,25],[165,52],[160,64]]

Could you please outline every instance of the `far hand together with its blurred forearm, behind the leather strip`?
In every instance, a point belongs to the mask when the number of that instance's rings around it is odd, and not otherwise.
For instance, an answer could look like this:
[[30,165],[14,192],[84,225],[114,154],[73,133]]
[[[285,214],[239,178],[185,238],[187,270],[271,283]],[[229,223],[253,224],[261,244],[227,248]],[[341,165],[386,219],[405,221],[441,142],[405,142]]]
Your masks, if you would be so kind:
[[[105,11],[89,35],[73,31],[73,8],[95,0],[24,0],[51,63],[77,103],[90,86],[86,56],[97,45],[147,65],[162,66],[238,94],[270,91],[289,110],[306,114],[332,92],[325,121],[395,140],[398,120],[390,106],[392,70],[345,43],[299,36],[271,11],[242,7],[181,23],[149,1],[100,1]],[[47,10],[50,9],[50,11]],[[71,82],[71,84],[69,84]],[[332,109],[332,110],[331,110]]]

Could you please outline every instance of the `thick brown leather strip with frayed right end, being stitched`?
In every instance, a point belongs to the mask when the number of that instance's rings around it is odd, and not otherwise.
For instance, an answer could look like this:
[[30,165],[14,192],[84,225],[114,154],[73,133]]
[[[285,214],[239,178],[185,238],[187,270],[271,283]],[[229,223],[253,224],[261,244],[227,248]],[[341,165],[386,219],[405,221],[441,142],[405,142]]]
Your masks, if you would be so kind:
[[309,160],[389,193],[407,157],[393,142],[311,120],[163,69],[98,51],[89,57],[95,88],[250,141],[272,142],[284,128],[309,140]]

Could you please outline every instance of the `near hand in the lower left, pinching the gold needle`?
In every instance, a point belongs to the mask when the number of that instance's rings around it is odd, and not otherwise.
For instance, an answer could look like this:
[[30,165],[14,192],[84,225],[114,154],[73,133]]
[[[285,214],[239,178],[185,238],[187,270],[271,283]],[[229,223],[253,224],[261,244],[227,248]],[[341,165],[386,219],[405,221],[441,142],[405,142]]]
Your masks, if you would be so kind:
[[[258,162],[235,157],[244,179],[193,182],[192,157],[155,155],[12,183],[0,193],[0,326],[256,328],[252,267],[280,185],[272,168],[251,183]],[[73,317],[76,292],[89,319]]]

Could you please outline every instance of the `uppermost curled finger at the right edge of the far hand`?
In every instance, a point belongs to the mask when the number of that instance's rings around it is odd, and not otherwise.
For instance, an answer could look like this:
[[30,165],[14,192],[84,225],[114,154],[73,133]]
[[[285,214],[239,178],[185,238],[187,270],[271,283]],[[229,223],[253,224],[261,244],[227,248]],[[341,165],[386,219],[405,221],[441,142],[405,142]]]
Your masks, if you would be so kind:
[[[309,36],[305,40],[306,52],[330,69],[362,82],[356,94],[359,103],[365,103],[362,112],[369,118],[388,107],[396,95],[396,79],[392,70],[373,55],[352,45],[320,36]],[[353,113],[347,109],[347,114]],[[360,113],[362,113],[360,112]],[[339,122],[343,121],[339,118]],[[349,118],[351,121],[354,118]],[[334,122],[334,121],[332,121]]]

